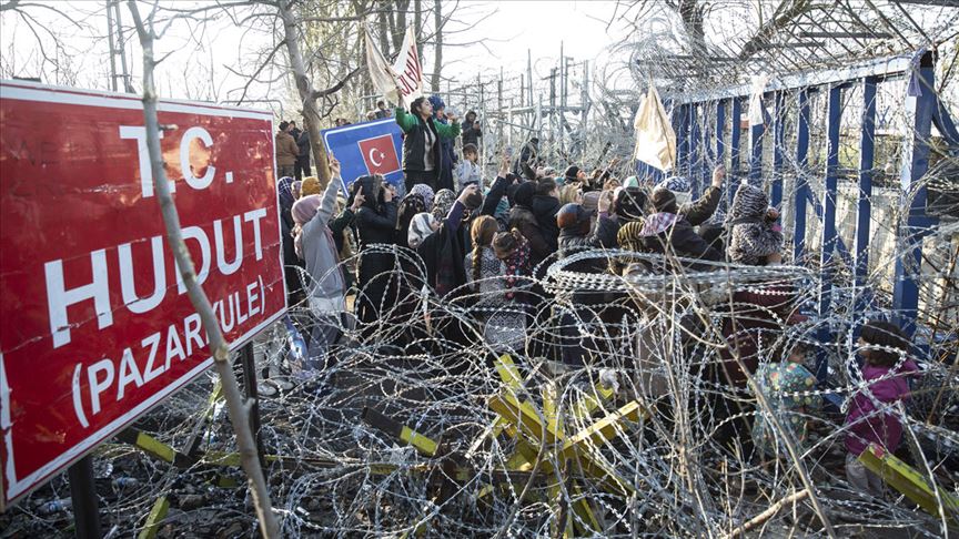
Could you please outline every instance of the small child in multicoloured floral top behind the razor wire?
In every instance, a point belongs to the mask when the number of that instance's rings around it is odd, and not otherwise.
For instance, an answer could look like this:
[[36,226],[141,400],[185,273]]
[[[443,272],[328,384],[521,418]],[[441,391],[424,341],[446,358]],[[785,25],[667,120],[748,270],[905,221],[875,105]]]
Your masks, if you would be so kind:
[[[754,376],[757,388],[766,396],[769,407],[786,435],[802,444],[806,440],[806,418],[804,415],[815,400],[811,395],[798,395],[809,391],[816,385],[816,377],[802,366],[806,348],[796,344],[788,354],[776,354],[776,362],[759,366]],[[777,444],[777,434],[773,424],[765,415],[758,415],[753,426],[753,443],[764,460],[786,455],[786,446]]]

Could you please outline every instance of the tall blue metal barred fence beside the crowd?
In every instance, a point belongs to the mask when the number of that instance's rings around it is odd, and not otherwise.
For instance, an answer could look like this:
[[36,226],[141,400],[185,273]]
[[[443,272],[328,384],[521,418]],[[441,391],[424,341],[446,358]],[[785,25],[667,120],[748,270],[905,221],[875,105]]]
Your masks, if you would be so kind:
[[[822,224],[822,238],[819,245],[819,263],[822,268],[822,281],[819,289],[819,312],[827,314],[831,307],[831,287],[834,256],[838,253],[842,260],[854,267],[854,278],[857,289],[864,292],[857,297],[860,307],[868,305],[871,293],[866,286],[870,240],[870,196],[872,194],[874,159],[876,153],[876,88],[881,81],[912,77],[913,84],[920,90],[918,95],[909,95],[906,100],[906,112],[909,116],[911,131],[902,136],[902,170],[900,183],[904,194],[910,196],[908,218],[897,231],[899,243],[905,251],[897,256],[896,278],[894,285],[894,309],[900,325],[908,334],[916,330],[916,318],[919,304],[919,271],[922,251],[922,237],[929,233],[937,220],[926,214],[926,190],[918,183],[929,166],[930,126],[935,123],[945,140],[959,146],[959,131],[949,116],[949,112],[939,100],[933,87],[935,51],[926,52],[915,69],[912,59],[898,55],[870,61],[861,65],[852,65],[840,70],[829,70],[816,73],[800,73],[779,78],[767,88],[764,101],[771,99],[773,118],[767,118],[761,125],[749,130],[750,154],[748,170],[740,169],[740,118],[743,101],[748,99],[749,88],[739,85],[727,89],[709,90],[687,94],[674,100],[674,118],[676,119],[677,138],[677,171],[687,174],[698,193],[706,179],[707,161],[711,161],[715,148],[716,162],[723,162],[727,152],[725,131],[731,120],[728,152],[730,171],[728,185],[739,183],[744,172],[749,183],[761,185],[764,177],[764,145],[769,142],[773,148],[773,170],[770,175],[770,201],[777,207],[789,205],[794,210],[795,227],[793,233],[794,257],[798,262],[807,261],[808,245],[806,241],[807,210],[809,202],[816,216]],[[858,199],[857,220],[854,248],[847,248],[837,234],[836,201],[839,171],[839,143],[841,104],[847,90],[861,88],[862,118],[860,125],[859,163],[858,163]],[[826,166],[814,171],[808,166],[810,151],[810,96],[814,92],[824,92],[826,104]],[[784,201],[783,176],[785,156],[793,154],[786,144],[787,104],[794,100],[797,113],[795,135],[795,175],[796,186],[791,201]],[[715,110],[715,125],[706,122],[709,112]],[[727,118],[727,111],[730,113]],[[765,114],[765,106],[764,106]],[[703,125],[700,125],[700,123]],[[767,133],[767,126],[771,133]],[[770,136],[771,135],[771,136]],[[708,148],[708,150],[704,150]],[[709,159],[704,159],[708,156]],[[822,193],[814,193],[808,179],[819,174],[825,185]],[[731,201],[734,189],[728,190],[728,201]],[[832,338],[828,328],[820,338]],[[825,365],[817,366],[817,373],[825,377]]]

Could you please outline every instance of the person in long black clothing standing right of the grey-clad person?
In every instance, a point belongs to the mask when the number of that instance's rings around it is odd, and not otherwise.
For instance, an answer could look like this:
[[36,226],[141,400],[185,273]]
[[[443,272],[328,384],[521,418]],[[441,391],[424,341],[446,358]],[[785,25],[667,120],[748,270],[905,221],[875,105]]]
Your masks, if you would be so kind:
[[386,284],[394,267],[394,257],[388,253],[373,253],[374,244],[392,244],[396,233],[396,202],[393,200],[395,190],[385,185],[383,176],[373,174],[356,179],[351,185],[353,194],[350,205],[357,193],[365,197],[356,212],[356,230],[360,235],[360,267],[357,295],[357,317],[364,324],[371,324],[381,318],[384,305]]

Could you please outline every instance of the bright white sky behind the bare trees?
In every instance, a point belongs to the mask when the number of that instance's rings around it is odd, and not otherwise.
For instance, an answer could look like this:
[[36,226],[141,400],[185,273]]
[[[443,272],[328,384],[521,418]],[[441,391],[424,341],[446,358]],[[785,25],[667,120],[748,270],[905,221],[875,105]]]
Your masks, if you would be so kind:
[[[48,3],[68,12],[72,20],[80,21],[84,28],[58,19],[50,10],[31,10],[37,21],[50,28],[67,43],[65,50],[57,51],[49,44],[52,41],[50,35],[40,31],[40,37],[47,43],[48,55],[55,55],[60,61],[65,59],[69,70],[73,72],[48,72],[43,82],[109,89],[109,48],[103,39],[107,33],[105,10],[102,8],[104,2]],[[577,61],[589,60],[592,64],[615,41],[615,37],[607,33],[606,26],[616,2],[444,2],[444,8],[453,9],[454,6],[456,13],[446,28],[444,78],[473,80],[477,74],[484,78],[498,74],[501,68],[507,77],[511,73],[525,74],[528,50],[533,58],[534,78],[542,79],[549,74],[551,68],[557,65],[561,47],[567,57]],[[125,6],[121,8],[124,26],[129,26],[129,10]],[[149,4],[141,4],[140,9],[145,13]],[[210,45],[203,51],[195,51],[188,39],[191,32],[194,29],[179,22],[157,43],[158,55],[171,53],[158,73],[161,95],[210,101],[238,98],[244,80],[231,73],[225,65],[242,68],[244,63],[255,62],[253,53],[262,50],[264,43],[267,43],[269,49],[270,38],[264,32],[238,30],[229,20],[219,20],[208,26],[203,37]],[[37,75],[39,51],[36,43],[37,39],[21,20],[10,12],[0,16],[0,57],[4,75],[11,72],[18,77]],[[139,77],[142,72],[141,59],[132,33],[128,35],[127,50],[128,65],[134,77]],[[432,49],[424,48],[421,55],[426,71],[432,71]],[[139,84],[135,85],[139,88]],[[319,85],[322,84],[317,82]],[[275,87],[255,89],[253,94],[254,99],[275,96]]]

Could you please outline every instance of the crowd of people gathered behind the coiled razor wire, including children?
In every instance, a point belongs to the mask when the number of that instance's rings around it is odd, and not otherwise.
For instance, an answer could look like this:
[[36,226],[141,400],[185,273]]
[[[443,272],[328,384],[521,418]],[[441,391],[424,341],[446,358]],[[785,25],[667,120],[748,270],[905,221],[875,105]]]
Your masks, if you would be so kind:
[[[466,115],[464,128],[444,109],[443,101],[432,96],[392,113],[404,133],[402,197],[396,185],[376,174],[356,179],[349,196],[339,196],[340,163],[332,157],[333,179],[321,186],[309,175],[309,161],[305,167],[297,165],[302,153],[295,124],[281,124],[276,152],[286,284],[291,305],[305,303],[314,316],[311,358],[325,359],[324,350],[343,338],[344,328],[362,332],[387,318],[402,324],[423,316],[417,309],[424,294],[468,304],[493,353],[522,350],[527,327],[542,322],[535,319],[543,316],[536,306],[546,292],[537,279],[549,264],[578,253],[622,250],[606,260],[576,258],[566,270],[625,277],[718,271],[724,263],[783,263],[779,214],[764,190],[739,184],[725,218],[716,218],[726,180],[721,165],[694,197],[683,177],[657,184],[637,176],[615,177],[616,162],[592,172],[569,164],[558,172],[544,162],[538,141],[533,140],[518,159],[503,155],[496,176],[486,179],[477,164],[482,133],[475,113]],[[391,116],[385,106],[378,106],[376,114],[381,112],[377,118]],[[454,155],[456,138],[463,141],[462,155]],[[305,148],[309,152],[309,140]],[[354,258],[355,274],[344,264]],[[301,278],[301,271],[309,278]],[[349,296],[355,297],[351,308]],[[775,414],[786,414],[777,428],[801,445],[804,415],[817,404],[797,397],[817,384],[804,366],[807,350],[798,343],[764,344],[775,342],[770,336],[786,326],[805,321],[797,296],[791,285],[776,282],[736,291],[727,302],[734,307],[723,317],[726,346],[715,376],[734,390],[761,393]],[[575,322],[590,316],[602,322],[602,314],[595,314],[602,309],[594,307],[604,301],[588,291],[577,293],[574,303],[589,308],[574,306],[553,314],[563,328],[558,360],[589,363]],[[645,308],[638,299],[634,307]],[[423,340],[417,339],[415,325],[410,327],[408,343]],[[452,340],[462,338],[454,335],[456,327],[437,330],[447,332],[444,336]],[[892,324],[871,322],[859,333],[865,384],[852,396],[847,415],[847,476],[851,485],[875,492],[878,479],[857,457],[869,444],[897,448],[902,425],[890,407],[908,398],[907,378],[917,374],[917,367],[908,359],[909,340]],[[785,455],[767,415],[747,424],[740,399],[727,398],[714,408],[731,418],[720,438],[748,446],[758,459]]]

